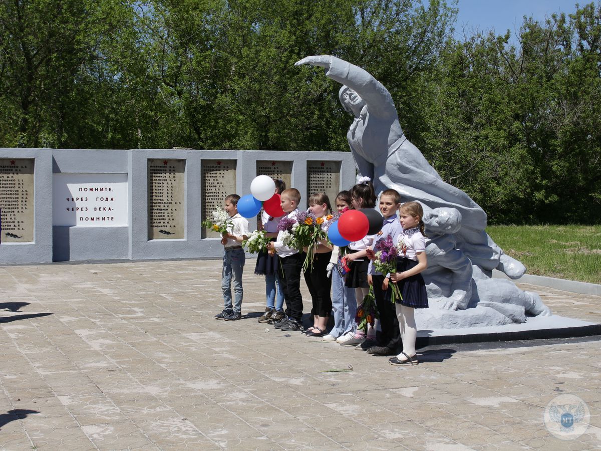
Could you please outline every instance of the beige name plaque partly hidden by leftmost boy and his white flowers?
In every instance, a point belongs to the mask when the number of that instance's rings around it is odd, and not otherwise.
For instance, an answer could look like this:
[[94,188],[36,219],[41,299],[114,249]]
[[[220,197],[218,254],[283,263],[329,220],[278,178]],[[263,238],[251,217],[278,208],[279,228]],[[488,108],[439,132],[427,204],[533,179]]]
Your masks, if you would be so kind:
[[[211,212],[223,210],[225,197],[236,193],[236,160],[203,160],[201,199],[203,221],[212,218]],[[203,229],[202,238],[216,238],[219,233]]]

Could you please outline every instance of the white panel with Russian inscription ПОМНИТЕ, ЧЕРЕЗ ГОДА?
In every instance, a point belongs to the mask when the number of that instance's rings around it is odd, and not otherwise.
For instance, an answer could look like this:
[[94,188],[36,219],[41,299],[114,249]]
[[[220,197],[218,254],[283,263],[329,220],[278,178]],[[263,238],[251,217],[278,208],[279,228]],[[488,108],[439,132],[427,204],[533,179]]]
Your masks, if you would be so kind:
[[127,226],[127,174],[54,174],[52,225]]

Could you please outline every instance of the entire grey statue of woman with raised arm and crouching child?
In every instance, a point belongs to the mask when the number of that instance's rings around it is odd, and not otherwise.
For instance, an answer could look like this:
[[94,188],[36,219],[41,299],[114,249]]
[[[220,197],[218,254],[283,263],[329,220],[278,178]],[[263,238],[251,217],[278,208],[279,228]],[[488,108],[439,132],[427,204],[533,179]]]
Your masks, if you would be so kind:
[[487,216],[465,192],[445,183],[405,137],[391,94],[370,73],[329,55],[303,58],[295,66],[324,67],[340,82],[343,108],[355,116],[347,139],[360,176],[376,194],[396,189],[402,201],[417,200],[426,224],[426,280],[430,308],[416,311],[421,328],[462,328],[525,322],[548,316],[540,297],[510,280],[493,279],[499,269],[519,278],[525,267],[503,253],[484,231]]

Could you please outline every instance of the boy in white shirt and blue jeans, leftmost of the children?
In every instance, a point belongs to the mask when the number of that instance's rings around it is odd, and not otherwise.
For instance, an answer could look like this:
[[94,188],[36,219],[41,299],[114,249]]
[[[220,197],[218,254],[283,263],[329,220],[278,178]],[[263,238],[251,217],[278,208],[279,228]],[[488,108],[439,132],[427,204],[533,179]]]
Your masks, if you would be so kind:
[[[224,266],[221,273],[221,290],[224,293],[224,310],[215,315],[215,319],[237,321],[242,318],[242,271],[246,255],[242,242],[248,239],[248,221],[238,213],[240,196],[230,194],[225,198],[224,209],[230,215],[231,224],[223,234]],[[234,280],[234,304],[231,301],[231,281]]]

